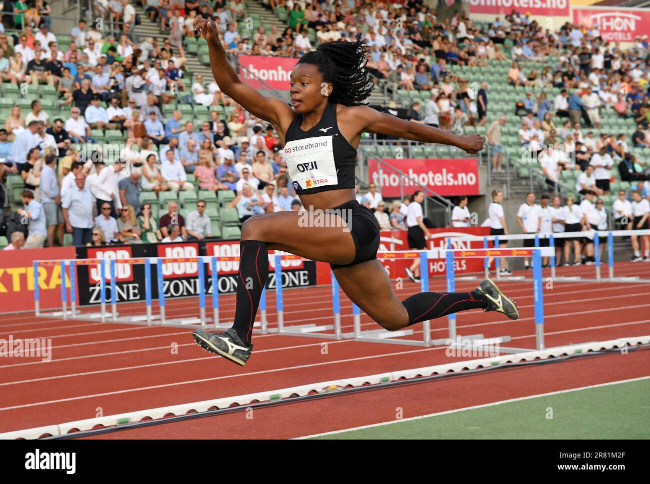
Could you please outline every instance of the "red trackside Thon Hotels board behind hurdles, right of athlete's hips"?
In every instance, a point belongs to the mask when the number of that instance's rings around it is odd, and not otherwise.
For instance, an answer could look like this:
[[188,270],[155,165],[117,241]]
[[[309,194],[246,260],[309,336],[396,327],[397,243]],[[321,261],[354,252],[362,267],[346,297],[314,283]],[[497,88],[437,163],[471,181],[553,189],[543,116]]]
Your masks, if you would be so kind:
[[[447,238],[450,238],[452,249],[482,249],[483,241],[456,240],[467,236],[489,235],[487,227],[453,227],[448,229],[429,229],[432,238],[427,240],[428,249],[444,249]],[[491,242],[489,243],[491,247]],[[408,236],[405,230],[391,230],[380,232],[380,251],[390,252],[398,250],[409,250]],[[413,259],[380,259],[383,268],[391,279],[407,277],[406,268]],[[483,272],[483,259],[454,259],[454,272],[456,274],[473,274]],[[445,259],[431,259],[429,261],[429,275],[447,274],[447,262]]]

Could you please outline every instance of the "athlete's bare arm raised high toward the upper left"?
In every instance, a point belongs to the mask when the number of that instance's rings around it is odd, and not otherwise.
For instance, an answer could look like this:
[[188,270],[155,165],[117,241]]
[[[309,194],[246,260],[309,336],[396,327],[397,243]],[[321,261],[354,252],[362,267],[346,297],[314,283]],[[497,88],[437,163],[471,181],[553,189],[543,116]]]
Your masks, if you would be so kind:
[[197,17],[194,29],[207,40],[210,55],[210,67],[214,81],[219,88],[253,115],[272,123],[276,129],[287,127],[294,118],[293,110],[281,99],[265,97],[255,89],[242,83],[226,57],[224,45],[219,40],[216,23]]

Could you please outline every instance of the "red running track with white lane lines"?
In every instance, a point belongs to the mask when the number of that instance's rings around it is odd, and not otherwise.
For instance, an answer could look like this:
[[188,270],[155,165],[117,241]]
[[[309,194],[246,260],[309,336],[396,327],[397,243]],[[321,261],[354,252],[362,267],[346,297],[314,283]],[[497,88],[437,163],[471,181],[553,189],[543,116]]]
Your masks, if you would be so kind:
[[[593,274],[593,268],[574,269],[567,268],[566,272],[570,270],[571,275],[584,277]],[[564,270],[565,268],[560,268],[558,275],[564,275]],[[617,266],[617,275],[642,275],[639,274],[642,270],[650,270],[650,267],[645,264],[627,264],[623,269]],[[432,290],[439,288],[441,282],[440,279],[432,280]],[[471,290],[474,285],[470,281],[457,281],[457,290]],[[532,283],[502,281],[500,287],[517,300],[521,319],[511,322],[498,313],[463,312],[457,318],[458,333],[483,333],[486,337],[510,335],[513,338],[512,346],[533,348],[535,329]],[[419,287],[415,284],[406,283],[397,292],[405,298],[417,290]],[[331,322],[330,294],[329,287],[286,290],[287,324]],[[545,290],[544,295],[547,347],[650,334],[649,294],[650,284],[647,283],[554,283],[552,289]],[[344,329],[350,331],[351,303],[344,296],[341,302],[342,324]],[[192,299],[167,301],[170,317],[174,314],[196,314],[195,308],[196,301]],[[234,296],[220,298],[220,310],[222,320],[232,320]],[[272,298],[268,298],[268,315],[273,326]],[[361,322],[364,329],[377,327],[365,315],[362,315]],[[413,337],[421,338],[421,325],[415,326],[415,329],[417,333]],[[190,328],[38,319],[29,314],[3,316],[0,338],[8,338],[9,335],[14,338],[51,338],[53,352],[49,363],[27,357],[5,358],[0,361],[0,432],[94,418],[100,409],[104,415],[117,414],[453,361],[445,355],[445,348],[442,347],[415,348],[350,340],[257,335],[254,338],[255,351],[252,358],[246,367],[239,368],[201,351],[194,344],[190,333]],[[432,337],[446,336],[447,318],[432,321]],[[172,351],[174,345],[177,345],[177,351]],[[643,376],[650,372],[650,365],[638,362],[639,370],[632,374],[627,364],[619,363],[623,360],[625,359],[612,359],[612,363],[605,364],[601,362],[606,360],[599,358],[586,364],[585,368],[596,368],[596,374],[606,374],[613,379]],[[544,375],[552,376],[547,377],[548,385],[545,383],[543,388],[534,385],[542,381],[539,377],[523,369],[517,370],[521,377],[516,377],[514,381],[512,372],[472,379],[473,385],[493,388],[487,394],[496,400],[511,398],[512,392],[508,392],[508,388],[528,388],[524,384],[533,384],[534,388],[530,389],[532,394],[566,388],[563,385],[573,385],[571,382],[574,381],[579,381],[580,385],[589,384],[584,383],[588,376],[586,372],[578,373],[576,377],[564,363],[546,365],[539,371],[548,372]],[[484,383],[487,381],[491,383]],[[445,409],[475,404],[472,403],[473,399],[467,397],[468,393],[473,393],[467,391],[467,379],[454,379],[444,385],[444,388],[447,385],[456,388],[454,385],[457,385],[456,391],[445,397]],[[438,391],[446,391],[437,390],[443,388],[441,383],[417,385],[425,386],[431,388],[428,391],[433,396],[439,395]],[[408,390],[406,394],[411,391],[419,390]],[[323,400],[322,403],[313,403],[314,410],[311,410],[310,403],[307,412],[315,412],[315,421],[322,420],[317,422],[318,425],[305,424],[304,429],[294,426],[288,432],[282,430],[281,426],[263,426],[260,422],[259,427],[253,426],[254,436],[294,437],[381,422],[385,420],[385,415],[372,401],[392,392],[395,390]],[[356,405],[350,406],[348,398],[356,399]],[[431,413],[441,408],[437,403],[434,405],[435,398],[413,398],[414,402],[420,402],[417,406],[414,403],[414,414]],[[404,397],[402,403],[403,400]],[[294,413],[295,422],[307,422],[307,417],[302,414],[304,405],[306,404],[289,405],[277,412]],[[328,407],[320,409],[319,405]],[[328,418],[318,418],[318,415],[322,417],[323,410]],[[276,410],[268,412],[275,413]],[[335,415],[337,412],[347,412],[349,418],[329,418],[330,413]],[[224,421],[230,421],[231,418],[238,421],[239,416],[229,416]],[[235,426],[227,427],[229,430],[224,427],[224,430],[214,434],[209,431],[197,433],[196,429],[203,427],[203,419],[192,422],[187,427],[185,424],[174,426],[174,429],[178,429],[174,431],[166,430],[170,427],[165,424],[133,432],[137,432],[138,438],[156,438],[161,432],[172,432],[167,437],[179,438],[253,436],[237,433]],[[122,437],[123,433],[114,435]]]

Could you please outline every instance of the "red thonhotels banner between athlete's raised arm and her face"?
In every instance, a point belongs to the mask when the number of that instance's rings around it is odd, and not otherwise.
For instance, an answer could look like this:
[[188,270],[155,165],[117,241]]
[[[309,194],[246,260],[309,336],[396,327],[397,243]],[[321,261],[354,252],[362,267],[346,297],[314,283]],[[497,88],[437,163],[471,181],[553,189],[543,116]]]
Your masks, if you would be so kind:
[[[298,64],[297,57],[240,55],[240,79],[255,89],[270,86],[272,89],[287,91],[289,90],[289,76],[296,64]],[[266,86],[258,79],[265,81]]]

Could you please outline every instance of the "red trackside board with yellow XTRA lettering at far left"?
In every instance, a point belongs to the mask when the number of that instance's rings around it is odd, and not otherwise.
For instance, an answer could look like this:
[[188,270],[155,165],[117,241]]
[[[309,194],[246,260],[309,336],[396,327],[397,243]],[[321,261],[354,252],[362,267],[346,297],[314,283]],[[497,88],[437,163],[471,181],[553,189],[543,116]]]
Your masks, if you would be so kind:
[[[74,257],[72,247],[0,251],[0,313],[34,310],[34,261]],[[60,264],[38,267],[41,309],[61,307],[61,282]]]

